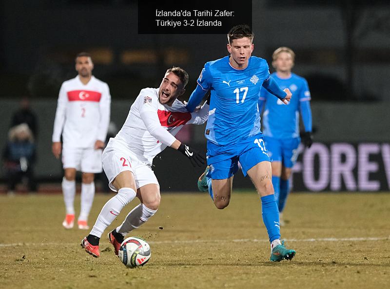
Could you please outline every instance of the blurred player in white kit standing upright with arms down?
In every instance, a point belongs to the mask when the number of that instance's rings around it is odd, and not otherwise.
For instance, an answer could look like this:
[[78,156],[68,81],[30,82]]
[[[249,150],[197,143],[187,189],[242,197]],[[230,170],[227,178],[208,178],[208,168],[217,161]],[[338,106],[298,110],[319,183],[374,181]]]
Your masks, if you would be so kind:
[[88,215],[95,196],[94,174],[102,171],[101,153],[110,122],[111,95],[108,85],[92,75],[93,69],[90,54],[78,54],[78,75],[62,83],[59,90],[52,151],[57,159],[62,151],[66,208],[62,225],[66,229],[73,228],[75,220],[76,171],[82,172],[78,228],[84,230],[89,229]]

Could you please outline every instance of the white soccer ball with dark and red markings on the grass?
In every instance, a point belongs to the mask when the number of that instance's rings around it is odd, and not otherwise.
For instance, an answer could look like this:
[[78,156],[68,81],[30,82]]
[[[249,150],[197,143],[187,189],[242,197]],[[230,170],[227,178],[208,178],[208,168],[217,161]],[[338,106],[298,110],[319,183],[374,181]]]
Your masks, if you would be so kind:
[[120,244],[118,257],[125,266],[134,268],[145,265],[150,258],[149,244],[140,237],[129,237]]

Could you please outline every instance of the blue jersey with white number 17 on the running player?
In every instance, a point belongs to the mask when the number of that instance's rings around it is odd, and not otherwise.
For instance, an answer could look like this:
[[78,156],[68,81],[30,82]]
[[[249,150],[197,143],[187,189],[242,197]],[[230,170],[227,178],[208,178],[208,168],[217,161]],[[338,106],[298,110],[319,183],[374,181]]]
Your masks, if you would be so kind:
[[211,91],[205,131],[210,142],[237,144],[261,133],[257,100],[263,82],[269,77],[267,61],[256,56],[251,56],[248,66],[241,70],[231,66],[229,56],[205,64],[197,80],[203,93],[195,90],[187,107],[199,104],[204,92]]

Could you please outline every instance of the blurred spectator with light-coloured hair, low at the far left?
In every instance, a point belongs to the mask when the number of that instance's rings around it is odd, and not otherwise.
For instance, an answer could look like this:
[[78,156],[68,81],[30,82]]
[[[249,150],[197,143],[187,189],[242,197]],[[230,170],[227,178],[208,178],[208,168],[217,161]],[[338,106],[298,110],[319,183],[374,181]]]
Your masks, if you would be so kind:
[[27,178],[31,192],[37,191],[33,170],[35,150],[34,136],[27,124],[20,124],[9,130],[8,142],[3,152],[9,195],[14,194],[16,184],[22,177]]

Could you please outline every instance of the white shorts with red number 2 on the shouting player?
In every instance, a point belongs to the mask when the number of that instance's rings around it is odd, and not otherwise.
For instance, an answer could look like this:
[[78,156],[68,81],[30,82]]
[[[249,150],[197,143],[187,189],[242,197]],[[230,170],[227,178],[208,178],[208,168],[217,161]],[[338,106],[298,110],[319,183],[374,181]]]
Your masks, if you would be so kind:
[[150,164],[139,161],[136,154],[115,139],[111,139],[107,144],[101,159],[103,170],[109,181],[109,187],[114,192],[117,192],[117,189],[112,182],[117,175],[124,171],[133,173],[137,189],[151,183],[159,186]]

